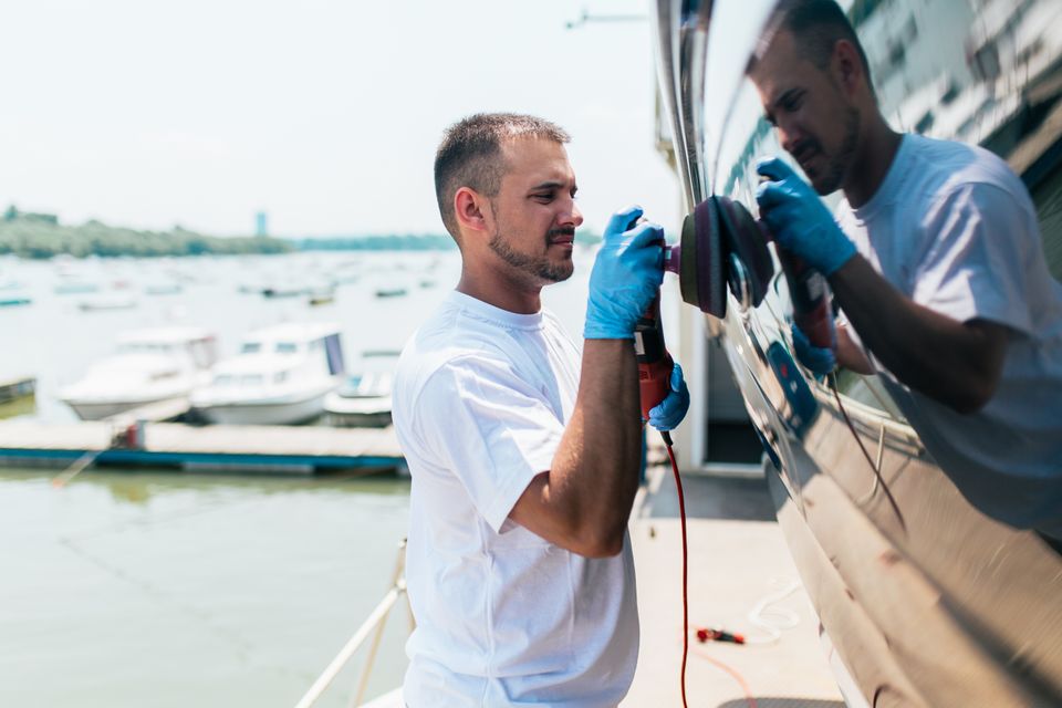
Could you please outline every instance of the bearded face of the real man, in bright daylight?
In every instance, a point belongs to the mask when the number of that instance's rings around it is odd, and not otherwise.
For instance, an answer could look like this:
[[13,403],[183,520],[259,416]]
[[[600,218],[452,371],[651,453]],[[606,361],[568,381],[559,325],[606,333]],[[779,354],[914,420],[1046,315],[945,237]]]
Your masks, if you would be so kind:
[[490,204],[491,250],[520,275],[544,285],[571,278],[575,229],[575,173],[560,143],[521,137],[502,147],[507,171]]

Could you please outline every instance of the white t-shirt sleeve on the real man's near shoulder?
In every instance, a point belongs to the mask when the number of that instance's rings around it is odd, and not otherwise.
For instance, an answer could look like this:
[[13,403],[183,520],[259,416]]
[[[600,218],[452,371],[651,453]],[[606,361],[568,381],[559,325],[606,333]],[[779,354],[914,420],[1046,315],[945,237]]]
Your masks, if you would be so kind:
[[553,464],[564,426],[542,394],[500,360],[461,357],[436,371],[417,403],[421,438],[500,532]]

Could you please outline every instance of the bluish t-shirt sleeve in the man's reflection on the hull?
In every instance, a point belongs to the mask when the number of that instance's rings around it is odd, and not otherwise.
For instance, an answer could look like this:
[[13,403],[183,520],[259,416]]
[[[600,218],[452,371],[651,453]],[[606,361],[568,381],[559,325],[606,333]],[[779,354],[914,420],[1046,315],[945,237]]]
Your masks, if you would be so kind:
[[959,322],[1032,331],[1025,263],[1039,248],[1025,206],[991,184],[962,186],[923,220],[935,235],[916,267],[913,300]]

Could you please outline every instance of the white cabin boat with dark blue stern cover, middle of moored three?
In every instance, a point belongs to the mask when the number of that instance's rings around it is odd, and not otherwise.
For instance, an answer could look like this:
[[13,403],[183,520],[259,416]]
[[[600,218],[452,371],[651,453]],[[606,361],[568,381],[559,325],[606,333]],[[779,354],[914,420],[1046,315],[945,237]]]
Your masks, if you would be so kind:
[[210,423],[291,425],[324,412],[324,397],[344,372],[340,330],[332,324],[280,324],[249,335],[219,362],[191,406]]

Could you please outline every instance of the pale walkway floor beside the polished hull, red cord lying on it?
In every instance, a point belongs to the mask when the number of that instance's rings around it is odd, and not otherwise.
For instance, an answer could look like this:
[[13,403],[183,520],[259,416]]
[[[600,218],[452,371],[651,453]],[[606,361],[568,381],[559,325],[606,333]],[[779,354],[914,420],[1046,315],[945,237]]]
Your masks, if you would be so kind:
[[[697,627],[711,627],[763,642],[769,635],[749,621],[749,612],[778,596],[780,589],[792,592],[768,610],[795,617],[795,626],[781,628],[772,643],[700,644],[691,636],[686,669],[689,705],[844,708],[819,639],[818,617],[799,585],[764,480],[684,473],[683,486],[691,635]],[[669,466],[650,469],[647,493],[631,522],[631,540],[642,642],[634,684],[621,708],[681,706],[681,541]]]

